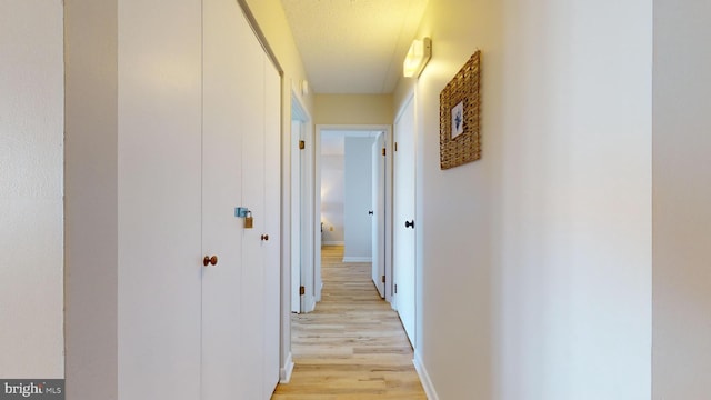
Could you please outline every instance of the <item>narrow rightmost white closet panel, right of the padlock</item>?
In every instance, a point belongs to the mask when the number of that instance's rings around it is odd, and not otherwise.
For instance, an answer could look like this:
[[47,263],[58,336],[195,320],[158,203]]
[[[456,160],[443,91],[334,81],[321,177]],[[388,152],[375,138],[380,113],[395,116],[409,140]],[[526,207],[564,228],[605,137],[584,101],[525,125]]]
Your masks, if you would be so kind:
[[281,77],[264,61],[264,391],[269,399],[279,382],[281,276]]

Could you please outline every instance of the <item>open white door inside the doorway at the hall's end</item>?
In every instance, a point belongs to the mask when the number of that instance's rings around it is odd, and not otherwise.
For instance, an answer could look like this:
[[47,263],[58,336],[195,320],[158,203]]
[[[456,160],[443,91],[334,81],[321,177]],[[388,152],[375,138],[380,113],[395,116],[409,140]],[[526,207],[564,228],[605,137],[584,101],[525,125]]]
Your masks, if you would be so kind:
[[381,298],[385,297],[385,148],[384,134],[375,138],[372,148],[372,279]]

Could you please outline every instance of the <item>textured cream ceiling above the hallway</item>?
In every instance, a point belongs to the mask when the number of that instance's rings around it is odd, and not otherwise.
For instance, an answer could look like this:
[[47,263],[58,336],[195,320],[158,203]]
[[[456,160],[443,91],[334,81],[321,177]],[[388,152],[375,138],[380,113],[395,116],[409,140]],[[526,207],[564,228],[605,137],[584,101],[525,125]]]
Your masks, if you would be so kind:
[[316,93],[391,93],[428,0],[281,0]]

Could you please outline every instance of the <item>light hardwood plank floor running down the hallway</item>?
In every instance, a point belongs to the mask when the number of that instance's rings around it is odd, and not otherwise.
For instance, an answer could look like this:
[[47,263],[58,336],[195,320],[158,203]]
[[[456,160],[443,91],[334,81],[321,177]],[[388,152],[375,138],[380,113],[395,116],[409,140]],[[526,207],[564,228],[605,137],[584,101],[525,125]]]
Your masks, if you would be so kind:
[[342,247],[322,254],[322,300],[314,312],[292,314],[296,367],[272,400],[427,399],[410,342],[378,296],[370,263],[342,263]]

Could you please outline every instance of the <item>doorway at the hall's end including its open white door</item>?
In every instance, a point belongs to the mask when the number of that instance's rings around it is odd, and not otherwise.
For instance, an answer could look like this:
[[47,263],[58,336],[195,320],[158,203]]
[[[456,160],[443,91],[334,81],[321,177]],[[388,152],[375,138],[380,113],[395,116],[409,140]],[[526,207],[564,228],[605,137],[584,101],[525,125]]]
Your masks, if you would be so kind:
[[343,246],[344,262],[371,262],[381,298],[392,296],[392,131],[389,126],[318,126],[316,129],[316,298],[321,248]]

